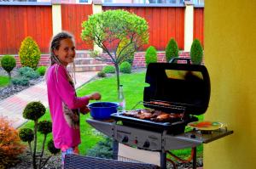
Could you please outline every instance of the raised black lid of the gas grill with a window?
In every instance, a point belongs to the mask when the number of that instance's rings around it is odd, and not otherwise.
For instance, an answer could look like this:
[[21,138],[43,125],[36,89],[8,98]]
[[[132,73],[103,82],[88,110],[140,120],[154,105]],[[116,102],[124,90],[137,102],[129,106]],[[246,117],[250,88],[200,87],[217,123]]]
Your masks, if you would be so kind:
[[[170,113],[201,115],[210,99],[210,78],[204,65],[151,63],[144,87],[144,106]],[[179,109],[177,109],[179,108]]]

